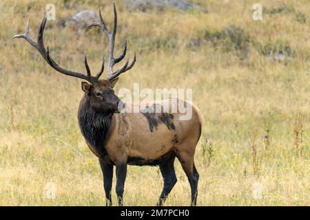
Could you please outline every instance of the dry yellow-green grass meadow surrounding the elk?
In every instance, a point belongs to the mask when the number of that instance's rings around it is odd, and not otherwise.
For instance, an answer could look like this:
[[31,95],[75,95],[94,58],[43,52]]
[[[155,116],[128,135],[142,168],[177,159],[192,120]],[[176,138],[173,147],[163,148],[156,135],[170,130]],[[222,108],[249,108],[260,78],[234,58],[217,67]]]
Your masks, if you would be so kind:
[[[116,91],[134,83],[193,89],[205,118],[195,156],[198,206],[309,206],[310,2],[192,2],[207,10],[128,11],[116,1],[115,54],[127,39],[127,54],[137,55]],[[47,3],[56,5],[56,19],[100,6],[112,24],[110,0],[0,2],[0,205],[104,206],[101,168],[76,117],[81,80],[55,72],[23,39],[12,39],[28,18],[37,39]],[[262,4],[263,21],[252,18],[254,3]],[[96,29],[76,34],[48,21],[44,42],[60,65],[79,72],[86,50],[93,73],[103,52],[107,57],[107,39]],[[165,205],[187,206],[187,177],[175,166],[178,182]],[[55,199],[46,196],[49,183]],[[158,167],[129,166],[124,205],[153,206],[162,186]]]

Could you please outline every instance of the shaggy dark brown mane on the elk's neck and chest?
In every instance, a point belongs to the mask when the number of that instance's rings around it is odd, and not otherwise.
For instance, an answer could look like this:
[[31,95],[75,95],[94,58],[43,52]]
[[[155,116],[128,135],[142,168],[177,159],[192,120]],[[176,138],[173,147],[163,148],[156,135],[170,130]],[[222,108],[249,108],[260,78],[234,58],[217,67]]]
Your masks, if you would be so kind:
[[113,113],[97,113],[89,104],[87,96],[81,100],[78,120],[81,133],[101,158],[106,157],[105,143],[110,136]]

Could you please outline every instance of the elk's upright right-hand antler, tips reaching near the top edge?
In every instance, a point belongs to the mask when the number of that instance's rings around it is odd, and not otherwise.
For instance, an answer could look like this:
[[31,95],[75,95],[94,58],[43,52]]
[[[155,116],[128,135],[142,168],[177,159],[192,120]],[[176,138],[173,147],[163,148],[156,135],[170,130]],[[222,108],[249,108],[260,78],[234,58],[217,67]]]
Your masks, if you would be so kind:
[[126,55],[126,51],[127,51],[127,41],[126,41],[125,42],[125,48],[124,48],[123,53],[121,54],[121,56],[118,56],[117,58],[114,58],[114,55],[113,55],[114,54],[114,43],[115,43],[116,26],[117,26],[117,13],[116,13],[115,2],[113,2],[113,9],[114,9],[114,26],[113,26],[112,34],[107,29],[107,26],[105,25],[105,22],[103,21],[100,9],[99,9],[100,23],[95,22],[95,23],[91,23],[90,25],[88,25],[88,28],[90,28],[90,27],[99,27],[99,28],[101,28],[101,30],[103,30],[103,32],[107,36],[107,39],[109,39],[109,41],[110,41],[109,61],[108,61],[108,64],[107,64],[108,74],[107,74],[107,78],[106,78],[106,80],[109,80],[110,82],[112,80],[114,80],[115,78],[117,78],[119,75],[121,75],[123,72],[126,72],[129,69],[132,69],[132,67],[134,66],[134,63],[136,63],[136,53],[134,53],[134,60],[132,61],[132,63],[129,66],[128,66],[129,60],[127,59],[127,62],[125,63],[125,65],[121,69],[119,69],[116,72],[113,72],[113,66],[116,63],[118,63],[121,60],[123,60],[123,58]]

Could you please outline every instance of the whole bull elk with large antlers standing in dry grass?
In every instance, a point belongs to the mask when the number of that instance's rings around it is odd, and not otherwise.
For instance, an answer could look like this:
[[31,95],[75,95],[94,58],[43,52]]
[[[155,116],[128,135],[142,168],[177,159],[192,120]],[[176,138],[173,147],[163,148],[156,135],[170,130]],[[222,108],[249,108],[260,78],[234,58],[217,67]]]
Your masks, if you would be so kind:
[[92,23],[89,27],[101,28],[110,41],[108,76],[106,79],[99,79],[104,70],[104,59],[101,70],[96,76],[92,76],[90,73],[86,55],[86,74],[72,72],[56,64],[50,56],[49,48],[46,50],[43,45],[46,14],[39,28],[37,42],[29,36],[29,21],[26,24],[25,34],[16,35],[14,38],[23,38],[28,41],[40,52],[48,65],[57,72],[88,81],[88,83],[83,82],[81,84],[85,94],[79,104],[78,120],[87,145],[92,153],[99,157],[107,205],[112,205],[111,188],[114,166],[116,166],[116,195],[118,205],[121,206],[123,204],[127,165],[158,165],[164,181],[163,191],[157,203],[158,206],[161,206],[176,184],[176,173],[174,171],[176,157],[180,161],[191,187],[191,204],[196,205],[199,175],[194,164],[194,153],[202,129],[203,118],[200,111],[192,103],[178,99],[158,100],[145,105],[142,109],[163,109],[165,104],[173,107],[179,102],[184,102],[187,107],[192,108],[192,118],[189,120],[180,120],[182,115],[180,111],[140,111],[138,113],[127,111],[130,107],[125,107],[125,104],[114,94],[113,87],[120,74],[134,66],[136,55],[134,55],[134,60],[130,65],[127,61],[121,69],[116,72],[113,71],[114,64],[125,57],[127,43],[121,56],[114,58],[117,25],[115,4],[112,33],[103,22],[100,10],[99,14],[101,21]]

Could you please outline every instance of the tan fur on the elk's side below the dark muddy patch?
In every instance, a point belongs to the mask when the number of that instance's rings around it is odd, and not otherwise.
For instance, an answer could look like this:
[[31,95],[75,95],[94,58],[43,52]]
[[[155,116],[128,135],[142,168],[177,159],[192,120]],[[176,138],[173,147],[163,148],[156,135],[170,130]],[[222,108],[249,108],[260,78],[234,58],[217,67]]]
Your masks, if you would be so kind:
[[[165,101],[167,100],[157,103]],[[184,161],[193,160],[194,162],[202,117],[198,109],[194,105],[192,107],[192,120],[181,121],[179,120],[180,113],[172,113],[175,129],[169,129],[161,123],[154,131],[149,130],[149,122],[143,113],[114,114],[111,136],[105,146],[107,153],[115,164],[127,163],[128,157],[156,161],[170,152],[174,152]]]

